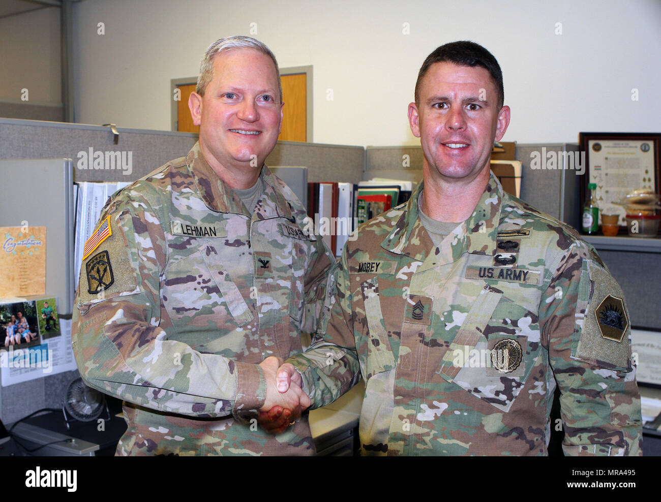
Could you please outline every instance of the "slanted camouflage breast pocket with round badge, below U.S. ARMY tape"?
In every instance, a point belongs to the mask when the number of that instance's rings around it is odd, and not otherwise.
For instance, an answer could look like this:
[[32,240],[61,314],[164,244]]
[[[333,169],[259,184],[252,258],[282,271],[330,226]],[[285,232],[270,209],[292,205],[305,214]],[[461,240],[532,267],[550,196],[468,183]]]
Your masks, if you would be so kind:
[[486,299],[476,301],[451,344],[446,359],[452,364],[444,365],[440,373],[507,412],[540,354],[537,314],[500,291],[486,288],[483,294]]

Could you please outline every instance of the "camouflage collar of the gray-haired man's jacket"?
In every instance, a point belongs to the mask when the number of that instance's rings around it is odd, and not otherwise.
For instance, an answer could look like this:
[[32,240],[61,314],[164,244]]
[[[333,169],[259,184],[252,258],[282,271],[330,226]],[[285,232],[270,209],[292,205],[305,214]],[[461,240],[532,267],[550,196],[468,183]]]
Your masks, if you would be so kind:
[[[186,155],[186,165],[195,180],[200,197],[209,209],[218,213],[252,215],[251,211],[247,211],[234,190],[215,174],[214,169],[204,159],[199,141]],[[282,184],[282,181],[274,176],[266,164],[262,166],[260,178],[264,181],[264,194],[256,207],[254,213],[256,218],[268,219],[282,216],[292,219],[291,206],[282,195],[282,190],[276,189],[278,183]]]

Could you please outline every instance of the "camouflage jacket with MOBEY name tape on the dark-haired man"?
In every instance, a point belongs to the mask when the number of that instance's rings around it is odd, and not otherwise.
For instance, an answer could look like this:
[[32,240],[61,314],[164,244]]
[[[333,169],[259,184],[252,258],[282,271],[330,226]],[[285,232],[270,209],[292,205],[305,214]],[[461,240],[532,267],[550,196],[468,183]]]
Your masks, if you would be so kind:
[[545,455],[558,386],[565,454],[641,454],[623,295],[592,246],[492,175],[436,248],[420,190],[344,249],[327,334],[289,361],[313,407],[360,371],[363,454]]

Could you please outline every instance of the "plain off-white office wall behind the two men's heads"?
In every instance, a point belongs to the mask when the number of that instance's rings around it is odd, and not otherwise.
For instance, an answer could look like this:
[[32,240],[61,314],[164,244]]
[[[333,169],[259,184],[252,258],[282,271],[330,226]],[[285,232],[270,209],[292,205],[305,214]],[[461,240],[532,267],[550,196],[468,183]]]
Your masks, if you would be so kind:
[[[0,20],[0,28],[23,22],[28,29],[24,18],[56,10]],[[81,123],[169,129],[170,79],[196,75],[208,44],[228,34],[254,34],[282,67],[313,65],[317,143],[415,145],[406,109],[420,63],[439,44],[466,38],[502,65],[512,106],[504,141],[575,143],[578,131],[658,131],[661,115],[657,0],[245,0],[240,9],[215,0],[86,0],[73,14]],[[26,75],[17,85],[38,71],[57,94],[59,56],[42,64],[42,52],[57,45],[46,35],[44,44],[22,44],[26,57],[12,67]],[[0,29],[3,44],[7,37]]]

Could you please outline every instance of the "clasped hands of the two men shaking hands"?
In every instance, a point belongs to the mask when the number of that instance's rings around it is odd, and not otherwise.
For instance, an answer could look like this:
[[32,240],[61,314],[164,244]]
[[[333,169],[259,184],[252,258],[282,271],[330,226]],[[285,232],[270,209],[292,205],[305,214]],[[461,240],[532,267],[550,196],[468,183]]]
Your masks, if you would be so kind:
[[303,392],[303,379],[293,365],[283,364],[280,357],[267,357],[260,363],[266,378],[266,400],[257,419],[265,431],[280,434],[299,419],[312,404]]

